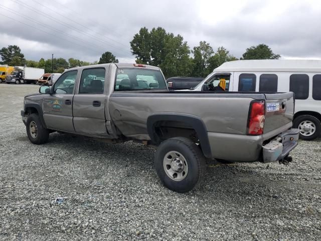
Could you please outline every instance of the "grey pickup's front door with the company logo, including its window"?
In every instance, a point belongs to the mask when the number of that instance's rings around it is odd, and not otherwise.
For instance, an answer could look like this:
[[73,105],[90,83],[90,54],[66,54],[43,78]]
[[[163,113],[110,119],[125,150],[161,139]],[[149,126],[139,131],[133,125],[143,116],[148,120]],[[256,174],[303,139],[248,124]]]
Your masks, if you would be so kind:
[[44,98],[44,119],[49,129],[75,132],[72,102],[77,70],[65,72],[52,87],[53,94]]

